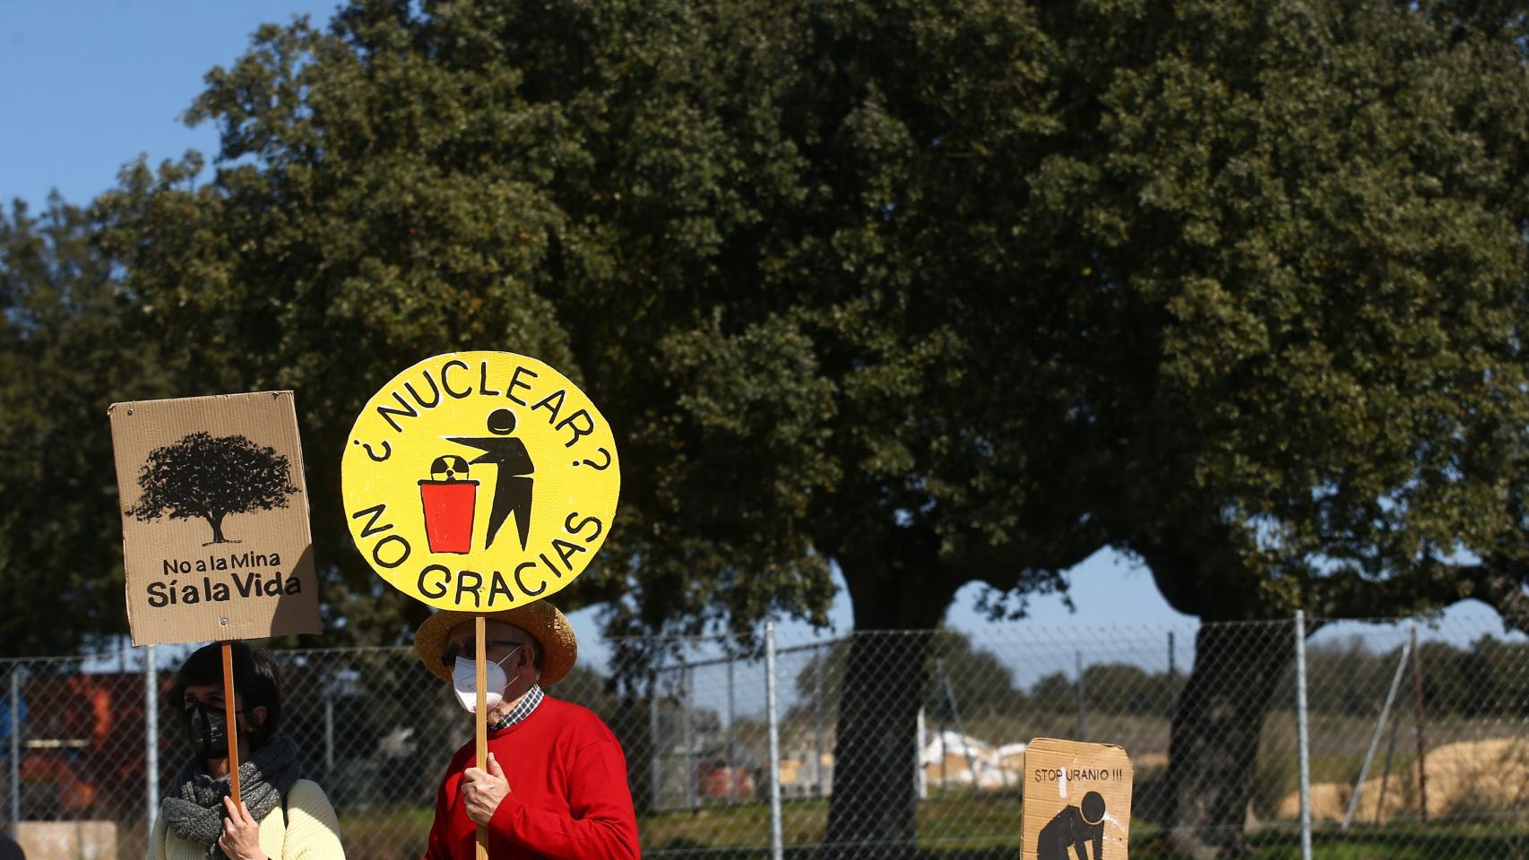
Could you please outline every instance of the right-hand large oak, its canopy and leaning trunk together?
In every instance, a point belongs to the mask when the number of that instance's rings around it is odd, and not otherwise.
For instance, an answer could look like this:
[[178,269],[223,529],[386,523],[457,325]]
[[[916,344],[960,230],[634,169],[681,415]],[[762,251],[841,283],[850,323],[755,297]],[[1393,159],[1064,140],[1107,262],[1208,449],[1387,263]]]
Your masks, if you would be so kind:
[[[1203,622],[1523,613],[1520,47],[1388,3],[1063,31],[1067,57],[1113,58],[1075,90],[1101,119],[1072,205],[1148,339],[1112,542]],[[1245,851],[1290,635],[1197,634],[1167,779],[1188,852]]]

